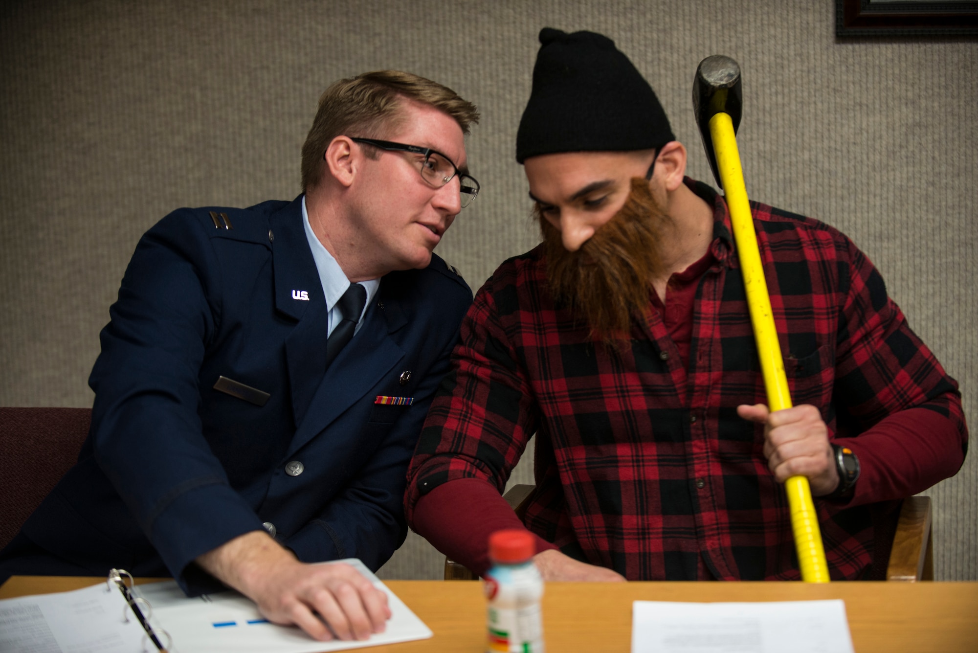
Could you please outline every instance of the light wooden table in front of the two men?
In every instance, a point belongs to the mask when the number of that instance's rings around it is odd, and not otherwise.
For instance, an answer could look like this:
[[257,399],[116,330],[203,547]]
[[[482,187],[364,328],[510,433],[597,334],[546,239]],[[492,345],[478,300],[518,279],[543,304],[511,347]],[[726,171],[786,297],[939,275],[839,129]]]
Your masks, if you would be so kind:
[[[84,588],[97,578],[15,576],[0,598]],[[433,639],[370,648],[378,653],[484,649],[485,599],[471,581],[387,581],[434,631]],[[800,601],[841,598],[857,653],[978,651],[978,583],[548,583],[550,653],[628,651],[632,601]]]

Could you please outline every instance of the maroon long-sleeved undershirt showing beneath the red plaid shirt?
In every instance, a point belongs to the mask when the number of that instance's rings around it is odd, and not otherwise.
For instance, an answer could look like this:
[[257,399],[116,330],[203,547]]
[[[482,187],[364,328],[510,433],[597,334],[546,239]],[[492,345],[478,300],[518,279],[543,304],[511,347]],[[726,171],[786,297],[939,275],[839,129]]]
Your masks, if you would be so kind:
[[[669,335],[689,367],[692,338],[692,305],[700,277],[709,269],[713,255],[673,275],[662,312]],[[915,408],[891,414],[858,438],[837,438],[852,449],[862,465],[860,480],[849,505],[909,497],[943,478],[953,476],[964,460],[949,459],[948,451],[960,451],[956,423],[942,414]],[[949,447],[950,443],[950,447]],[[927,470],[929,474],[924,474]],[[525,529],[496,488],[477,478],[445,483],[415,505],[414,529],[449,558],[481,575],[489,569],[489,536],[502,529]],[[536,534],[537,552],[556,548]]]

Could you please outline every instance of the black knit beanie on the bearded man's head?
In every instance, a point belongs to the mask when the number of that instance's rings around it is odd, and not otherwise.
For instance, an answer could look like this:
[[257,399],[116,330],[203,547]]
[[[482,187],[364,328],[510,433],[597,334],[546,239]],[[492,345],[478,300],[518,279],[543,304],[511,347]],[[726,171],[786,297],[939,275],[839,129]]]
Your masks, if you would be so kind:
[[642,74],[592,31],[544,27],[516,160],[554,152],[653,150],[676,140]]

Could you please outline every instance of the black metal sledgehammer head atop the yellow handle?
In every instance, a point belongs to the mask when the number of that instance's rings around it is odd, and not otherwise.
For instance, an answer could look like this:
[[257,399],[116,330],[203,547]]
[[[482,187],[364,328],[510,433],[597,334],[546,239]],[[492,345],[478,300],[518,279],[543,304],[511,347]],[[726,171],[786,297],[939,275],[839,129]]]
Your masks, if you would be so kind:
[[713,55],[701,61],[692,81],[692,110],[696,115],[706,156],[710,159],[710,168],[721,188],[723,182],[720,181],[720,170],[717,168],[717,154],[713,150],[713,139],[710,137],[710,118],[720,112],[729,114],[733,121],[733,133],[736,134],[737,127],[740,126],[742,105],[740,66],[723,55]]

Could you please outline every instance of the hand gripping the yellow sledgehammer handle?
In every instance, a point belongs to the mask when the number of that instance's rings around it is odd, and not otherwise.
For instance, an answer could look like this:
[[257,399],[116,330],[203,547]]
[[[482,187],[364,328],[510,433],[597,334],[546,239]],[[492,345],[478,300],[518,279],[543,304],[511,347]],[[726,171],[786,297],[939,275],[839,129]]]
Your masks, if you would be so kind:
[[770,413],[764,404],[756,404],[738,406],[736,413],[764,424],[764,456],[778,483],[806,476],[814,497],[831,494],[838,487],[828,427],[819,409],[803,404]]

